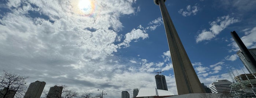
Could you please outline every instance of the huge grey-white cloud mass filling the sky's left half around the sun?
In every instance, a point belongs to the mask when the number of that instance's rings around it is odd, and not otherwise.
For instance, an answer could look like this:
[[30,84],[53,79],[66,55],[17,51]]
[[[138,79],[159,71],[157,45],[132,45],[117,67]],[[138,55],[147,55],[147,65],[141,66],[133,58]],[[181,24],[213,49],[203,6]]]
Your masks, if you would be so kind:
[[[45,81],[45,90],[55,84],[66,84],[77,91],[102,88],[116,97],[111,92],[154,86],[153,78],[146,79],[153,74],[137,70],[131,74],[125,70],[130,67],[120,64],[122,61],[113,54],[120,48],[118,42],[125,47],[131,41],[148,38],[140,29],[124,34],[123,41],[118,34],[123,27],[120,16],[134,14],[136,8],[132,4],[136,0],[92,2],[97,8],[91,13],[77,7],[79,0],[10,0],[1,4],[8,11],[0,19],[1,69],[29,76],[29,83]],[[144,65],[152,67],[152,63]],[[145,81],[124,88],[117,82],[142,79],[133,75],[141,75]],[[112,91],[113,88],[118,91]]]

